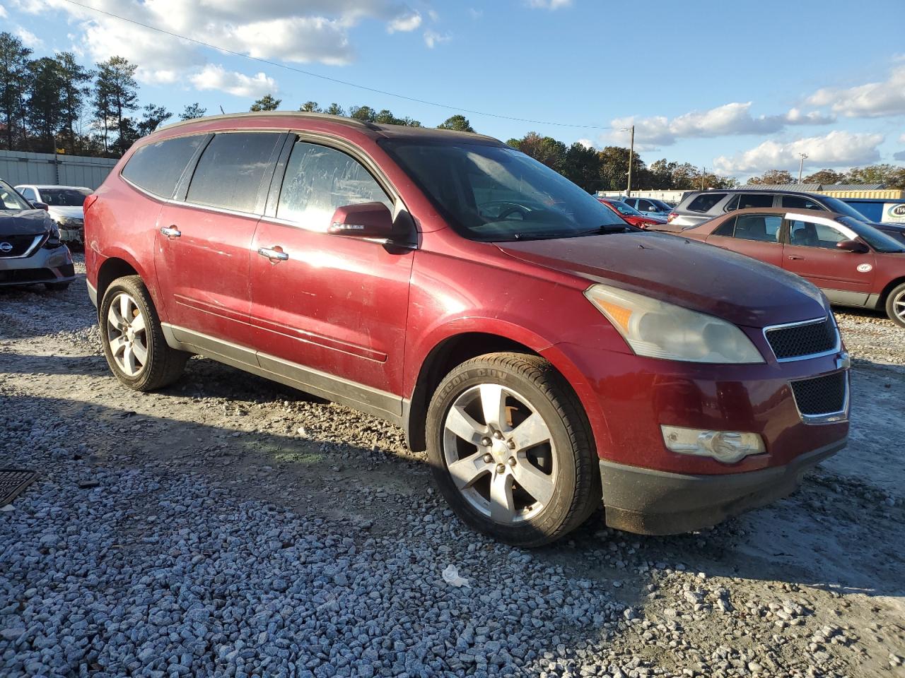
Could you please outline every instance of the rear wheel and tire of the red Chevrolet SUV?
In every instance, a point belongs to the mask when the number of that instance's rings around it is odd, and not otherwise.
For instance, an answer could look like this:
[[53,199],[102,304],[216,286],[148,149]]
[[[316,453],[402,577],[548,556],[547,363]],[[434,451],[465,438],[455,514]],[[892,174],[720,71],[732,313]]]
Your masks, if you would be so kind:
[[176,381],[189,354],[167,345],[148,287],[138,276],[114,280],[100,305],[100,337],[110,371],[136,391]]

